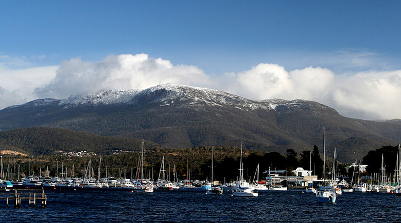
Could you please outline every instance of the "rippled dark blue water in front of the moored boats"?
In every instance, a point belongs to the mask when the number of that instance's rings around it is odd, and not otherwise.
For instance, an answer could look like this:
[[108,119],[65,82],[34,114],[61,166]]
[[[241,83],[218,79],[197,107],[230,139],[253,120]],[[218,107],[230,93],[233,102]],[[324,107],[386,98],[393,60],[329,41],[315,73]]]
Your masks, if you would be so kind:
[[318,204],[315,194],[266,191],[258,197],[205,195],[201,191],[46,191],[47,208],[0,203],[2,222],[12,221],[340,221],[401,220],[401,196],[344,193],[336,204]]

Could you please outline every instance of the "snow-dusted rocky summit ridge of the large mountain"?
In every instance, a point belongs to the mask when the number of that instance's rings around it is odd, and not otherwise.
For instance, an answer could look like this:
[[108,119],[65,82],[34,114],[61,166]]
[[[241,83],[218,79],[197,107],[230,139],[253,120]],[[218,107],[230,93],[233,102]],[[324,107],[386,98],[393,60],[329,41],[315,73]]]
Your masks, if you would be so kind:
[[[251,100],[220,90],[191,87],[180,84],[163,84],[145,90],[101,90],[94,93],[72,95],[68,99],[37,99],[24,105],[41,106],[59,101],[59,106],[74,107],[78,105],[139,105],[159,102],[160,106],[233,106],[246,110],[276,110],[277,106],[297,106],[307,102],[301,100]],[[142,101],[141,101],[142,100]]]

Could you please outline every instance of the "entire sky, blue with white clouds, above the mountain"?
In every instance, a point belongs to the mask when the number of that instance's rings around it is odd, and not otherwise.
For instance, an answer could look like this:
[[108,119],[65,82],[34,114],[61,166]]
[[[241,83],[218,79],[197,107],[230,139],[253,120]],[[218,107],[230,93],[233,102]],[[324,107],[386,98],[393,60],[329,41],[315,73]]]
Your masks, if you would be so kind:
[[162,83],[401,118],[400,1],[3,1],[0,109]]

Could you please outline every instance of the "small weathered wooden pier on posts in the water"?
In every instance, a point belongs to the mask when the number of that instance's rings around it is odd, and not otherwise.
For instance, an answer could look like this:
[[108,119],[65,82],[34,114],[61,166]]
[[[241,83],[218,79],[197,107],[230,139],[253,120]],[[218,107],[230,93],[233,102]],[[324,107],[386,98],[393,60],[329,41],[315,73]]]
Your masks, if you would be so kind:
[[43,189],[0,190],[0,200],[6,200],[7,207],[12,201],[14,208],[21,207],[22,200],[28,200],[29,206],[36,206],[37,202],[43,208],[47,206],[47,196]]

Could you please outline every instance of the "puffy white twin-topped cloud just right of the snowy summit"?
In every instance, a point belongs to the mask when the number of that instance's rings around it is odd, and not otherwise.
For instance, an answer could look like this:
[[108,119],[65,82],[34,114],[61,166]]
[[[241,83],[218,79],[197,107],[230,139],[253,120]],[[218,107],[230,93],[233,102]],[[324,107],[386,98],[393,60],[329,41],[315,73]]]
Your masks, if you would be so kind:
[[225,74],[224,78],[230,79],[231,85],[225,88],[220,86],[220,89],[252,99],[321,101],[335,86],[334,73],[320,67],[307,67],[288,72],[276,64],[259,64],[238,74]]

